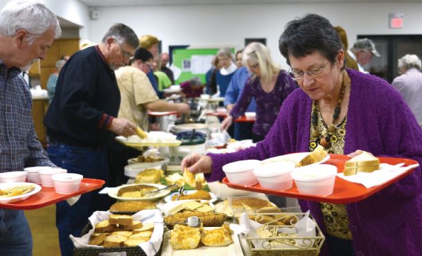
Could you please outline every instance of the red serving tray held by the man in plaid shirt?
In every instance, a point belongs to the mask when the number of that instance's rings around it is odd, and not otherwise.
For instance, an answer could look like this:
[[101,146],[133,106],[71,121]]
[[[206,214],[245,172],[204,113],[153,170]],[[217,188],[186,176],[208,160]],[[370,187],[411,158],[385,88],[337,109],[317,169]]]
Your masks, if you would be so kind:
[[69,199],[73,196],[77,196],[78,194],[85,194],[87,192],[91,192],[92,190],[97,190],[98,188],[103,187],[104,183],[105,181],[103,180],[84,178],[80,183],[79,190],[72,194],[58,194],[55,192],[54,187],[42,187],[41,191],[39,191],[37,194],[29,196],[28,199],[15,203],[0,203],[0,208],[15,210],[38,209]]

